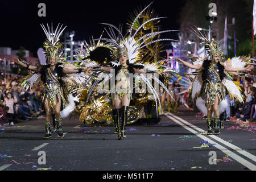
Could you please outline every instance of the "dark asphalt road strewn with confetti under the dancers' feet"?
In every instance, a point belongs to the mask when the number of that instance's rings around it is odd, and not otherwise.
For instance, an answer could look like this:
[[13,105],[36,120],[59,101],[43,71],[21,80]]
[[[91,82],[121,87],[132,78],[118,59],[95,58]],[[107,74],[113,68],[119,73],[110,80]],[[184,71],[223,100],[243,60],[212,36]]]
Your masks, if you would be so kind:
[[63,125],[62,139],[56,133],[43,139],[44,119],[6,126],[0,131],[0,170],[256,170],[255,124],[225,122],[220,135],[204,135],[205,121],[195,112],[166,111],[156,125],[128,125],[123,140],[114,127],[86,127],[76,118]]

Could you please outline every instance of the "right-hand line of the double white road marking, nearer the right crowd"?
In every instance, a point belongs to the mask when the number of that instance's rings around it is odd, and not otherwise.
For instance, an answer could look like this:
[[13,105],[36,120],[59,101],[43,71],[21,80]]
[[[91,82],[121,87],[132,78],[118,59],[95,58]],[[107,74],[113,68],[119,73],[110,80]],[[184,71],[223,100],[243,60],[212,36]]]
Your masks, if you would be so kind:
[[[179,121],[185,123],[186,125],[189,125],[191,127],[193,127],[194,129],[198,130],[198,131],[202,131],[204,132],[203,129],[200,129],[199,127],[195,126],[195,125],[192,125],[191,123],[185,121],[184,119],[180,118],[180,117],[177,117],[176,115],[172,114],[172,113],[168,113],[170,114],[172,117],[176,118],[176,119],[179,119]],[[253,154],[250,154],[249,152],[246,152],[244,150],[242,150],[242,148],[240,147],[237,147],[235,146],[234,144],[232,143],[229,143],[229,142],[226,142],[225,140],[221,139],[220,137],[217,137],[216,135],[208,135],[209,137],[212,137],[213,139],[216,139],[218,142],[221,142],[223,144],[225,144],[226,146],[232,148],[233,150],[236,150],[237,152],[239,152],[240,154],[246,156],[247,158],[253,160],[254,162],[256,162],[256,156],[253,155]]]

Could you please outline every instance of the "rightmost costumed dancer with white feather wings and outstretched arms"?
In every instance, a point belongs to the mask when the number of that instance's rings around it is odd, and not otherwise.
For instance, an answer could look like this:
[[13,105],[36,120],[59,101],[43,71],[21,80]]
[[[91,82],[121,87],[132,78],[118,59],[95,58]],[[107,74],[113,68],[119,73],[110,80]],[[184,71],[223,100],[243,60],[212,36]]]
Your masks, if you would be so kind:
[[208,52],[208,59],[197,60],[194,64],[177,57],[175,59],[191,69],[199,70],[192,82],[192,98],[196,99],[197,107],[207,114],[207,134],[220,134],[220,113],[225,110],[227,105],[226,90],[232,97],[243,102],[239,87],[234,84],[227,72],[251,71],[253,66],[248,65],[245,68],[246,62],[242,59],[232,59],[228,66],[223,63],[223,53],[214,39],[208,40],[201,32],[193,32],[203,40]]

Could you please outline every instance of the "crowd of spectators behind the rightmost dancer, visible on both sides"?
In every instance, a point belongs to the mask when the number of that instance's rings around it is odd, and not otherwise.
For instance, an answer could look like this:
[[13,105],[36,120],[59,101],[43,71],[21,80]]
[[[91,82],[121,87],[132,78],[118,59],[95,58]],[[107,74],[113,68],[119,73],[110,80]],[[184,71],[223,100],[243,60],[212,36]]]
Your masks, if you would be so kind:
[[[255,122],[256,121],[256,68],[247,74],[246,77],[239,77],[237,75],[230,75],[233,78],[233,81],[240,86],[241,94],[243,97],[243,103],[240,103],[226,93],[226,100],[228,101],[228,107],[224,113],[224,116],[221,117],[226,118],[226,121],[238,120],[238,121],[245,121],[245,122]],[[185,83],[184,83],[185,84]],[[179,84],[173,84],[176,93],[182,93],[179,88],[182,88]],[[177,97],[178,96],[178,97]],[[178,106],[186,107],[190,110],[198,110],[196,109],[195,103],[192,101],[191,93],[185,92],[184,94],[180,94],[176,96],[176,103]],[[193,108],[193,109],[192,109]],[[204,115],[203,113],[199,113],[200,116]]]

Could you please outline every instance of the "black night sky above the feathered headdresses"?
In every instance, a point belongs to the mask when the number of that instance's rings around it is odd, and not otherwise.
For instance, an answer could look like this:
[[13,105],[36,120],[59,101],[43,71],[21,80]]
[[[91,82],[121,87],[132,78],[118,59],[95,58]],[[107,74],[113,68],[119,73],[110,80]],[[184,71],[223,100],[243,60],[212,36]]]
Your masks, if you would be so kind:
[[[46,17],[38,16],[38,4],[46,3]],[[129,13],[137,7],[146,7],[152,1],[12,1],[0,2],[0,47],[18,49],[20,46],[32,51],[42,47],[46,36],[40,23],[57,23],[67,25],[66,30],[75,31],[74,40],[89,40],[92,35],[98,38],[104,26],[98,23],[125,25]],[[162,19],[162,30],[179,30],[180,10],[185,0],[154,1],[151,7]],[[105,34],[105,37],[107,35]],[[162,38],[177,39],[177,32],[167,33]]]

